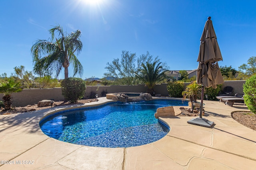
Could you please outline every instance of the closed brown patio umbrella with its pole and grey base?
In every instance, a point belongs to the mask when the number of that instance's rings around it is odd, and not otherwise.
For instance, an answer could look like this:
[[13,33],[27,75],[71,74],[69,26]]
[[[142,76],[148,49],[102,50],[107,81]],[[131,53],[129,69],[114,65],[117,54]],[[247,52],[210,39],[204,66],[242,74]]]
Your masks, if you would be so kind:
[[224,83],[218,65],[218,61],[221,60],[222,55],[220,53],[220,47],[217,42],[217,37],[212,25],[212,20],[211,17],[208,17],[200,39],[200,49],[197,59],[199,64],[197,69],[196,82],[197,84],[202,85],[200,117],[196,119],[191,119],[188,121],[188,123],[204,127],[212,127],[212,125],[214,124],[214,122],[202,118],[204,87],[217,88],[217,84]]

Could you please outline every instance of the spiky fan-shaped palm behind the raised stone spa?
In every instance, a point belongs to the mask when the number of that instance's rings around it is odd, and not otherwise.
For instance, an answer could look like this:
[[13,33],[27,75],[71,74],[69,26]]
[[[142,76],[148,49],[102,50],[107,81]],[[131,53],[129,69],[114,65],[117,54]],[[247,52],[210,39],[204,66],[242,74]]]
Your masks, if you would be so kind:
[[156,83],[161,82],[166,78],[165,72],[167,70],[161,64],[162,62],[159,62],[159,60],[156,60],[153,63],[142,63],[141,67],[138,69],[138,74],[135,73],[136,76],[148,86],[147,93],[150,93],[153,96],[155,94],[154,86]]

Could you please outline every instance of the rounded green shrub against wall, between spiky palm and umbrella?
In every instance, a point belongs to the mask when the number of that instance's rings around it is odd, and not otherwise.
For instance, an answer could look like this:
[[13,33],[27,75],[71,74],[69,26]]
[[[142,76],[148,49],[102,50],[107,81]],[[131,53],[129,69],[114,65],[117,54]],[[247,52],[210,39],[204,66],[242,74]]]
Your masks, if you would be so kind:
[[180,81],[168,82],[167,91],[170,97],[180,98],[182,97],[182,91],[184,83]]

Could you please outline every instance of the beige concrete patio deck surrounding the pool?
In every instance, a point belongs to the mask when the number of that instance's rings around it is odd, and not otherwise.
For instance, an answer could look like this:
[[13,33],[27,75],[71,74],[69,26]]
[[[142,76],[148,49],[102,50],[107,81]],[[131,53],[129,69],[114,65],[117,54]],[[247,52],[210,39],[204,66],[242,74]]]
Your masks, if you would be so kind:
[[[99,98],[97,103],[84,106],[109,101]],[[188,124],[193,117],[160,117],[170,126],[170,132],[154,143],[129,148],[87,147],[44,135],[39,127],[42,117],[77,106],[0,115],[0,160],[9,163],[0,164],[0,169],[255,170],[256,131],[236,122],[230,114],[247,107],[204,103],[203,117],[214,121],[212,128]]]

